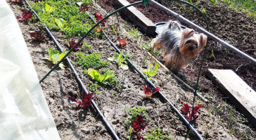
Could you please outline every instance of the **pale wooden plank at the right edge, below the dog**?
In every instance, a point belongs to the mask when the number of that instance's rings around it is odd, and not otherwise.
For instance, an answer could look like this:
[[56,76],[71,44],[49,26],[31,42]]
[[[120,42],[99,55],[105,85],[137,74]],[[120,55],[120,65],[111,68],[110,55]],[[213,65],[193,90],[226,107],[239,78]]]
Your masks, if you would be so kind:
[[256,126],[256,92],[232,70],[208,69],[206,75]]

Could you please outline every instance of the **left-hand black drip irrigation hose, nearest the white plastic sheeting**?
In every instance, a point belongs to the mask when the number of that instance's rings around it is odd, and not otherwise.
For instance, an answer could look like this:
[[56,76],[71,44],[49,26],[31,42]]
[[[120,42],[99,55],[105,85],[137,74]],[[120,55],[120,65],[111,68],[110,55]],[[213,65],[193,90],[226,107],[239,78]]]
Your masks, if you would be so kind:
[[[27,0],[25,0],[25,2],[27,3],[27,5],[30,7],[30,9],[32,10],[32,12],[36,15],[37,19],[39,21],[41,21],[41,19],[39,18],[39,16],[37,15],[37,13],[32,9],[31,5],[27,2]],[[42,22],[42,21],[41,21]],[[44,24],[44,23],[43,23]],[[60,47],[59,43],[57,42],[57,40],[55,39],[55,37],[52,35],[52,33],[49,31],[49,29],[45,26],[44,24],[44,28],[46,30],[46,32],[50,35],[50,37],[52,37],[52,40],[54,42],[54,44],[58,47],[59,51],[63,51],[62,48]],[[82,80],[80,79],[79,75],[77,74],[75,68],[73,67],[72,63],[69,61],[69,58],[66,57],[66,61],[69,64],[70,69],[73,71],[74,76],[77,79],[78,84],[83,88],[83,90],[85,91],[86,94],[88,94],[87,89],[84,86],[84,83],[82,82]],[[83,93],[84,94],[84,93]],[[83,96],[83,95],[82,95]],[[98,115],[100,116],[100,118],[103,121],[103,124],[105,124],[105,126],[107,127],[108,131],[110,132],[110,135],[112,136],[113,139],[115,140],[120,140],[119,137],[116,135],[116,132],[113,130],[113,128],[110,126],[110,124],[108,123],[108,121],[106,120],[106,118],[104,117],[104,115],[101,113],[100,109],[98,108],[98,106],[96,105],[96,103],[94,102],[94,100],[91,100],[91,104],[94,107],[94,109],[96,110],[96,112],[98,113]]]

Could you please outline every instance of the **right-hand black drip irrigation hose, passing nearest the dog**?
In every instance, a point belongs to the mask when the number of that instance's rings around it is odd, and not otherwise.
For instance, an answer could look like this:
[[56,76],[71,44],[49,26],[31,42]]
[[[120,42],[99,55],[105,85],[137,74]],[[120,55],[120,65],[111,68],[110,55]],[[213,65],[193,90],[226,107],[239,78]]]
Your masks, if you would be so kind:
[[[89,15],[89,13],[87,12],[87,14]],[[89,15],[90,18],[94,21],[94,23],[97,23],[91,15]],[[102,30],[102,33],[103,35],[107,38],[107,40],[109,41],[109,43],[111,44],[111,46],[113,46],[116,51],[118,53],[120,53],[121,51],[116,47],[116,45],[110,40],[110,38],[108,37],[108,35]],[[123,54],[123,58],[125,57],[125,55]],[[129,60],[129,59],[126,59],[126,61],[128,61],[128,63],[130,64],[130,66],[132,66],[139,74],[141,77],[143,77],[146,82],[148,82],[150,84],[150,86],[152,86],[153,88],[156,88],[156,86],[150,81],[148,80],[148,78],[142,73],[140,72],[140,70],[135,66],[133,65],[133,63]],[[183,123],[189,128],[189,130],[191,130],[194,135],[196,135],[196,137],[200,140],[204,140],[204,138],[201,137],[201,135],[196,131],[196,129],[187,121],[186,118],[183,117],[183,115],[179,112],[179,110],[176,109],[176,107],[159,91],[158,92],[159,95],[166,101],[169,103],[169,105],[171,106],[171,108],[174,110],[174,112],[179,116],[179,118],[183,121]]]

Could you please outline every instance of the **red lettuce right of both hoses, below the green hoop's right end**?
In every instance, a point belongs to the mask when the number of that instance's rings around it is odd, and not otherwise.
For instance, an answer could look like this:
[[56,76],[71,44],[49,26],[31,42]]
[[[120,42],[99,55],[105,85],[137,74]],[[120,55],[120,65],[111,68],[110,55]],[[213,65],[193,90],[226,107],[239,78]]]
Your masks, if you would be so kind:
[[198,104],[192,109],[192,113],[190,114],[190,106],[187,103],[183,103],[184,107],[180,110],[184,111],[185,116],[188,118],[188,122],[195,120],[198,117],[197,111],[202,108],[201,104]]

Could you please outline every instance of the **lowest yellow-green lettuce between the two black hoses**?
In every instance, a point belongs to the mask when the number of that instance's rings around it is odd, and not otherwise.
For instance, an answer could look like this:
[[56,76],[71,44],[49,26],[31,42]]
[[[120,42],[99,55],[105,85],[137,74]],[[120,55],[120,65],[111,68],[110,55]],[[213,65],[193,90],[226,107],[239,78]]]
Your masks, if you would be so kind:
[[87,73],[97,82],[103,82],[114,75],[114,72],[105,72],[105,74],[101,76],[97,70],[92,68],[88,68]]

